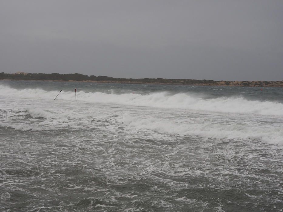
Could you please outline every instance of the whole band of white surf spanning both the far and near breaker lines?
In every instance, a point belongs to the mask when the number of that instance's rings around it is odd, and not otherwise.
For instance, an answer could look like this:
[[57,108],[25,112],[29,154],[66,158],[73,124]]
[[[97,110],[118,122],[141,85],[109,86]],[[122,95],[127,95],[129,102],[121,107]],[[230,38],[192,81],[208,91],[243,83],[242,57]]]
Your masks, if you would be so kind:
[[[102,121],[103,127],[113,133],[123,133],[126,128],[127,132],[132,134],[140,130],[147,134],[153,132],[154,134],[151,134],[154,136],[160,134],[170,137],[174,134],[208,139],[255,140],[283,145],[283,129],[280,121],[283,116],[283,104],[272,101],[249,101],[244,98],[203,99],[188,93],[118,95],[79,91],[77,92],[80,107],[78,110],[68,103],[74,100],[73,92],[62,91],[58,100],[53,101],[54,96],[58,94],[57,91],[17,90],[2,85],[0,89],[2,97],[6,96],[7,99],[12,97],[11,99],[17,102],[15,105],[9,103],[12,102],[9,100],[3,105],[6,111],[1,113],[0,126],[21,131],[74,127],[88,129],[99,127],[99,122],[96,121]],[[29,98],[29,101],[25,100],[26,98]],[[48,99],[53,103],[50,106],[45,105],[49,104]],[[97,104],[93,107],[93,103]],[[109,110],[103,106],[105,103],[124,105],[123,108],[127,109]],[[148,111],[140,111],[136,110],[135,106],[152,108]],[[157,108],[163,108],[164,117],[158,114]],[[134,113],[127,111],[129,109]],[[197,114],[195,111],[206,111],[209,116]]]

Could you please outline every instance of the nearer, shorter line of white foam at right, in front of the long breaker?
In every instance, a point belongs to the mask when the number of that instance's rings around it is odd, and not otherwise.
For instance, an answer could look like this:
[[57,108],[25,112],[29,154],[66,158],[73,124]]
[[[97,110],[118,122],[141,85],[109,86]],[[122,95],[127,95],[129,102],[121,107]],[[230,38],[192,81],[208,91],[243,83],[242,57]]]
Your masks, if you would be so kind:
[[268,144],[283,145],[281,127],[243,126],[240,123],[186,123],[166,121],[157,118],[136,118],[130,115],[123,117],[123,122],[133,129],[147,129],[165,134],[201,136],[214,139],[241,139],[262,141]]

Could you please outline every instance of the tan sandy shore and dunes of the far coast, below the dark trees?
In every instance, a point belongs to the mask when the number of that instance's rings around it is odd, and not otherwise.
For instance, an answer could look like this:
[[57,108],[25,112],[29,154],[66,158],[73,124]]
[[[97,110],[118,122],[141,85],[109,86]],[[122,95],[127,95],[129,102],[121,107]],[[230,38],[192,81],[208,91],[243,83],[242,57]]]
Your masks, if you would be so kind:
[[[121,80],[28,80],[28,79],[0,79],[11,81],[52,81],[52,82],[89,82],[89,83],[115,83],[115,84],[168,84],[168,85],[200,85],[200,86],[237,86],[237,87],[271,87],[283,88],[283,81],[213,81],[213,80],[193,80],[204,81],[204,83],[186,83],[186,79],[163,79],[165,82],[145,82],[135,81],[135,79]],[[140,79],[139,79],[140,80]],[[174,82],[175,81],[175,82]]]

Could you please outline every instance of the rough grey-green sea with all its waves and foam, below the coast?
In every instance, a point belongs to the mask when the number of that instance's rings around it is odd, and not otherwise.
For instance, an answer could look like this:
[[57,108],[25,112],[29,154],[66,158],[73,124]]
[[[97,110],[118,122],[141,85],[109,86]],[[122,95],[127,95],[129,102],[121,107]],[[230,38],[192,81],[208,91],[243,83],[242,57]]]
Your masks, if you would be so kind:
[[0,144],[0,211],[283,210],[283,88],[2,80]]

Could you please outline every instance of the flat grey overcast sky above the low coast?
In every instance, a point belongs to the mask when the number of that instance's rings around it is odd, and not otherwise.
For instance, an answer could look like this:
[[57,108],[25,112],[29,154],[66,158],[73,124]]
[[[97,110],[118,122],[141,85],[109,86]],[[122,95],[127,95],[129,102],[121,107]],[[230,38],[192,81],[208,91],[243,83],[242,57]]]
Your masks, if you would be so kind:
[[282,0],[2,0],[0,72],[283,80]]

